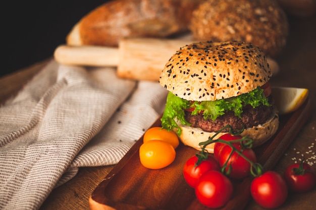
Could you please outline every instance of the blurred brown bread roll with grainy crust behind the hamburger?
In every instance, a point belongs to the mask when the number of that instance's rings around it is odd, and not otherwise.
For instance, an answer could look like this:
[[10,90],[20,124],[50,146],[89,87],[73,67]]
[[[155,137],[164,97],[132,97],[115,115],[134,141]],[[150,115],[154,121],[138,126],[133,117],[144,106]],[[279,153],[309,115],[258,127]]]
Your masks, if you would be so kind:
[[251,42],[275,57],[286,44],[288,21],[274,0],[207,0],[194,10],[194,40]]

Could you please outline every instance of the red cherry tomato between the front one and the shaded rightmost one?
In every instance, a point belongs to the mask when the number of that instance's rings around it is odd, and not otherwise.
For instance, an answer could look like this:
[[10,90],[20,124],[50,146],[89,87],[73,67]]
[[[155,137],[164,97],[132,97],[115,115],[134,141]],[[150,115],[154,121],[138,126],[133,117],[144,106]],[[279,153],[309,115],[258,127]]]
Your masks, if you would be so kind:
[[280,174],[267,171],[252,180],[250,192],[252,198],[262,207],[276,208],[285,202],[288,188]]

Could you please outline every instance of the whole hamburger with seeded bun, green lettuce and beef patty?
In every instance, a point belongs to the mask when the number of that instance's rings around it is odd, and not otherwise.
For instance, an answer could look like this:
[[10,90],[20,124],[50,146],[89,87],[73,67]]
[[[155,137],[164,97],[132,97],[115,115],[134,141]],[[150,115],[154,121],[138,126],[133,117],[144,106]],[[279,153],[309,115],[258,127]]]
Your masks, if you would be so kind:
[[[169,93],[162,127],[184,145],[201,150],[225,125],[243,130],[257,147],[279,125],[265,54],[248,42],[201,41],[181,47],[166,63],[159,83]],[[214,139],[225,134],[222,130]],[[214,144],[205,148],[214,152]]]

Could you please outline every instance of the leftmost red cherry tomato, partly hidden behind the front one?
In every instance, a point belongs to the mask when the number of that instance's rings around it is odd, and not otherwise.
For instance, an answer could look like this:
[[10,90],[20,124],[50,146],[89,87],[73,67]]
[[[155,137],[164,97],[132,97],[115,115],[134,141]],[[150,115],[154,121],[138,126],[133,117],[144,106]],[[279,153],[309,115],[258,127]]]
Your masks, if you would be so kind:
[[197,157],[193,156],[183,167],[184,179],[191,187],[195,187],[197,180],[207,171],[220,171],[220,165],[213,156],[208,155],[207,160],[203,160],[199,165],[196,165],[197,160]]

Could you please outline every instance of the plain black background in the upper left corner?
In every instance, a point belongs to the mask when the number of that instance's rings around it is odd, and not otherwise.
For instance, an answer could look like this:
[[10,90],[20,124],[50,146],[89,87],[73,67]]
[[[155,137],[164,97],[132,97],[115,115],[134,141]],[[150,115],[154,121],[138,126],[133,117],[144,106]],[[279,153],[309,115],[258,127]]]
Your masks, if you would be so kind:
[[0,77],[54,54],[72,27],[106,0],[7,1],[2,7]]

